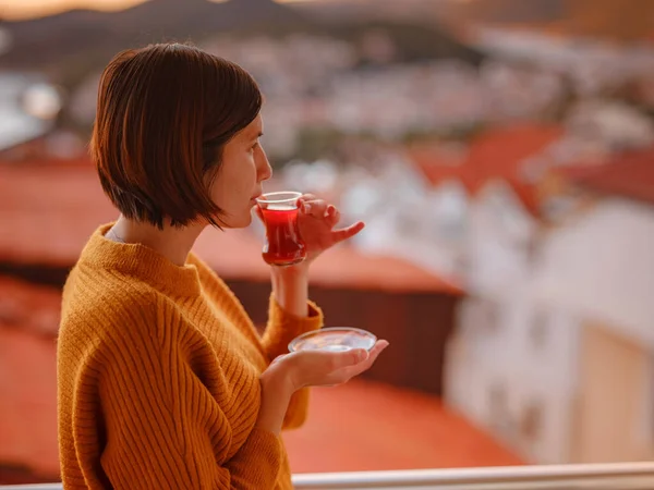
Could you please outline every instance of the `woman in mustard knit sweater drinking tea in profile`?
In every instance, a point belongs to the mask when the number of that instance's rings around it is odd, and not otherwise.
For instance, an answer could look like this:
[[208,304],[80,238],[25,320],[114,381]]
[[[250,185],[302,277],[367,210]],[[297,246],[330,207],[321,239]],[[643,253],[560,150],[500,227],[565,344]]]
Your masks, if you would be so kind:
[[[178,44],[118,54],[99,87],[92,155],[117,222],[89,238],[68,278],[58,343],[65,489],[288,489],[282,428],[306,387],[348,381],[370,355],[283,355],[323,324],[307,271],[359,233],[302,197],[307,260],[271,268],[261,338],[191,248],[207,225],[243,228],[270,166],[262,95],[238,65]],[[234,257],[237,260],[238,257]]]

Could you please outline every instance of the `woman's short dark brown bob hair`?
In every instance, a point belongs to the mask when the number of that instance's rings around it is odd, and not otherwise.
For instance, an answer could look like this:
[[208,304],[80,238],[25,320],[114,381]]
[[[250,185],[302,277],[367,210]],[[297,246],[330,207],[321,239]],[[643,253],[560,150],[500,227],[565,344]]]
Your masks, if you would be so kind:
[[247,72],[193,46],[120,52],[102,73],[90,140],[105,193],[126,218],[159,228],[198,217],[218,225],[207,183],[261,107]]

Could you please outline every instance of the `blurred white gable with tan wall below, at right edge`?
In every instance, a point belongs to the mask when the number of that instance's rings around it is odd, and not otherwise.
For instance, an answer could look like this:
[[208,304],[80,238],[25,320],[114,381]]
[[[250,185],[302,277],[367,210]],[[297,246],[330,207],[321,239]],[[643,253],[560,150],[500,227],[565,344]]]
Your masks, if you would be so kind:
[[543,310],[576,322],[567,375],[574,404],[562,441],[569,458],[652,458],[654,207],[609,198],[558,231],[534,271],[533,292]]

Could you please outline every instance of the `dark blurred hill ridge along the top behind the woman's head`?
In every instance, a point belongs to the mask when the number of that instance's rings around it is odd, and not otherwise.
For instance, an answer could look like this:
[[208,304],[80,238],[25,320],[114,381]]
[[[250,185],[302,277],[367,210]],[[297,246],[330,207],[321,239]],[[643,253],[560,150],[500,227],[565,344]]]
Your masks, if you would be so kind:
[[324,22],[272,0],[149,0],[119,12],[74,10],[7,22],[3,27],[13,38],[13,47],[0,56],[1,68],[39,70],[69,88],[122,49],[169,40],[199,42],[226,32],[238,36],[305,32],[356,42],[372,27],[393,39],[400,61],[458,58],[479,64],[483,59],[435,24],[365,17]]

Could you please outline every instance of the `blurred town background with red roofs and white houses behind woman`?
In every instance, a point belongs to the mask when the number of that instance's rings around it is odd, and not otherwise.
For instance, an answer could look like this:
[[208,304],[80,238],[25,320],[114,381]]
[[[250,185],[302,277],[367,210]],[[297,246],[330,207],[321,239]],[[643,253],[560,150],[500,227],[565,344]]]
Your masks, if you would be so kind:
[[[0,8],[0,482],[59,479],[60,289],[116,217],[86,155],[98,79],[164,40],[259,82],[268,191],[367,223],[312,296],[391,346],[314,390],[294,471],[654,457],[654,1]],[[262,232],[197,244],[258,324]]]

